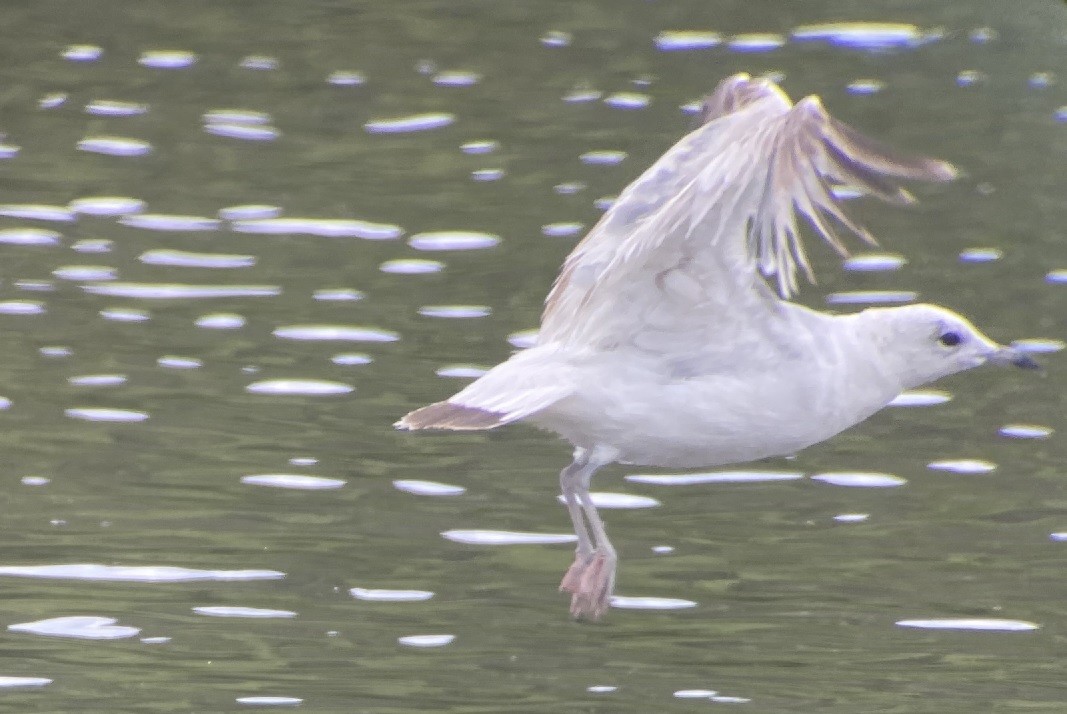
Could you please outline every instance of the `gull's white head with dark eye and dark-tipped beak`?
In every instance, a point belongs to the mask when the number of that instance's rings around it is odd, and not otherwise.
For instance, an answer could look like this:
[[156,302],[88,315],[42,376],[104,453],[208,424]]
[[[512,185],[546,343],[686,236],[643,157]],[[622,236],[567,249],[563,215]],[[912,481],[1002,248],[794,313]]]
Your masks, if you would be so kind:
[[1028,353],[998,345],[970,320],[944,307],[925,304],[875,307],[860,316],[874,328],[872,334],[883,338],[880,348],[895,355],[893,362],[906,390],[987,362],[1040,368]]

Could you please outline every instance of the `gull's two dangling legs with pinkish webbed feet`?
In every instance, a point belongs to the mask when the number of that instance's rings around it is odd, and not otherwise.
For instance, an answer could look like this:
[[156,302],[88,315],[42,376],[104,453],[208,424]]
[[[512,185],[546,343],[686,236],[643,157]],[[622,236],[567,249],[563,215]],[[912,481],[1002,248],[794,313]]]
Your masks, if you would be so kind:
[[618,561],[615,548],[604,529],[604,522],[589,495],[592,475],[612,460],[606,457],[607,454],[598,455],[587,449],[577,449],[574,462],[559,475],[563,503],[567,504],[574,533],[578,537],[574,564],[563,575],[559,589],[571,593],[571,615],[593,620],[603,615],[610,604]]

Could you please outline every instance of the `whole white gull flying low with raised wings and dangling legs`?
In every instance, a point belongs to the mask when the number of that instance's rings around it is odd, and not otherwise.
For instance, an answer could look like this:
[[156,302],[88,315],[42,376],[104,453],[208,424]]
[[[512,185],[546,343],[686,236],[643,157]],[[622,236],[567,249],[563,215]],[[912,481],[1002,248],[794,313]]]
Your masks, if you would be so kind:
[[589,493],[599,469],[789,456],[905,390],[986,362],[1037,366],[943,307],[835,315],[790,301],[798,272],[814,283],[797,215],[847,255],[827,219],[875,241],[834,186],[907,204],[894,179],[950,180],[951,164],[891,153],[818,97],[794,105],[748,75],[723,80],[702,118],[567,257],[534,347],[395,425],[526,422],[574,446],[559,480],[577,536],[560,590],[575,618],[600,618],[615,589],[618,557]]

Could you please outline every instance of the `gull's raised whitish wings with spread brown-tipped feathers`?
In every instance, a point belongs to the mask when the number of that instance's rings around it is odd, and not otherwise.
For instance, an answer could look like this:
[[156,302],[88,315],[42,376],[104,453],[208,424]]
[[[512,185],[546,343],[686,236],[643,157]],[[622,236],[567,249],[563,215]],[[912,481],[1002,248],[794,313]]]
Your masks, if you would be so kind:
[[731,77],[704,107],[704,124],[626,187],[568,256],[545,301],[541,344],[678,351],[678,339],[751,329],[779,305],[760,273],[782,299],[798,270],[813,280],[797,213],[841,254],[827,218],[874,242],[832,186],[909,203],[893,179],[956,175],[942,161],[891,154],[817,97],[793,105],[768,79]]

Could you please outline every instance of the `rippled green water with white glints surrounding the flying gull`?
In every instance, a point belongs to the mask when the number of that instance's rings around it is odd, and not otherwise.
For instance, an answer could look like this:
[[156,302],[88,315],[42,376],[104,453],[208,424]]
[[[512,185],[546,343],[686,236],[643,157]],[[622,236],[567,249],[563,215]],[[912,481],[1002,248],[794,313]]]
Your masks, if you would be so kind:
[[[1064,711],[1067,10],[935,4],[0,5],[0,707]],[[885,251],[813,247],[802,300],[918,295],[1048,374],[606,470],[624,607],[574,623],[567,447],[391,424],[739,70],[966,172],[857,206]]]

